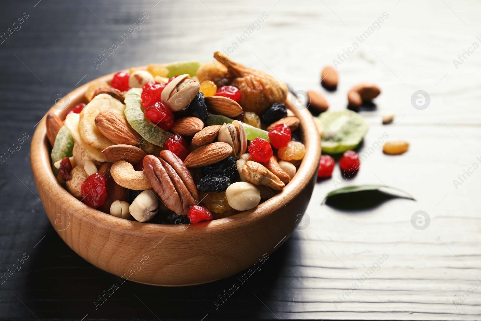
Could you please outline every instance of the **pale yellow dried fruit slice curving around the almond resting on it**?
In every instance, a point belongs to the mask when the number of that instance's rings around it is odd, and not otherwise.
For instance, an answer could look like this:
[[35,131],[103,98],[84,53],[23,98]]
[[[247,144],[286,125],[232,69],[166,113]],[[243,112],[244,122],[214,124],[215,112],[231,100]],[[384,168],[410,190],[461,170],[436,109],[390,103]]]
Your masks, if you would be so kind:
[[103,110],[110,110],[124,116],[125,105],[108,94],[95,96],[80,113],[78,129],[82,139],[91,147],[103,150],[114,145],[114,142],[102,135],[95,126],[95,116]]

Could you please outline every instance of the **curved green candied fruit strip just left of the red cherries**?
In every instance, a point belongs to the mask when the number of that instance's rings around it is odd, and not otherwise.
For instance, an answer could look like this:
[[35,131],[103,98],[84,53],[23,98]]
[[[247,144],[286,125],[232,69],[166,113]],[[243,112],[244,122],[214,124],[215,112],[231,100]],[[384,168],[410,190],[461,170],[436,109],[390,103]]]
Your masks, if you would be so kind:
[[145,117],[141,104],[141,93],[141,88],[131,88],[127,91],[125,94],[124,114],[130,126],[146,141],[157,146],[163,146],[165,139],[172,135],[172,133],[155,126],[154,123]]

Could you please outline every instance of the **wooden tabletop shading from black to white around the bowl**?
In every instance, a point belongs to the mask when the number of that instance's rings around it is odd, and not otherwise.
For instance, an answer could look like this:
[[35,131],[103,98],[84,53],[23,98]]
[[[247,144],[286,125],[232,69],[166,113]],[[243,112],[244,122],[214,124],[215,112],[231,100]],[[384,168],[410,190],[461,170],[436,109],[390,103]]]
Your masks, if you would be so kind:
[[[0,285],[0,319],[481,319],[481,290],[473,288],[481,285],[481,169],[457,188],[453,183],[473,163],[481,165],[481,49],[457,68],[453,63],[473,42],[481,44],[478,3],[37,1],[0,2],[0,34],[28,14],[0,44],[0,154],[29,136],[0,165],[1,272],[28,255]],[[384,12],[389,17],[380,29],[339,65],[338,90],[316,84],[322,66],[359,43],[356,36]],[[97,55],[142,13],[149,17],[141,29],[96,69]],[[236,37],[262,13],[268,17],[260,28],[240,43]],[[373,152],[342,187],[387,184],[417,201],[392,199],[362,211],[320,205],[336,187],[336,168],[333,179],[317,183],[305,224],[218,309],[215,300],[237,276],[184,288],[126,282],[96,309],[98,295],[118,280],[78,257],[51,227],[29,165],[35,125],[57,94],[86,81],[153,62],[207,61],[233,42],[239,45],[234,60],[295,89],[323,92],[331,109],[345,108],[355,83],[377,83],[376,106],[361,111],[371,128],[360,152]],[[427,109],[411,105],[416,90],[430,94]],[[383,126],[380,116],[388,112],[396,118]],[[376,150],[383,133],[409,141],[409,151],[388,156]],[[418,210],[431,219],[424,231],[410,223]],[[380,268],[349,292],[384,253]]]

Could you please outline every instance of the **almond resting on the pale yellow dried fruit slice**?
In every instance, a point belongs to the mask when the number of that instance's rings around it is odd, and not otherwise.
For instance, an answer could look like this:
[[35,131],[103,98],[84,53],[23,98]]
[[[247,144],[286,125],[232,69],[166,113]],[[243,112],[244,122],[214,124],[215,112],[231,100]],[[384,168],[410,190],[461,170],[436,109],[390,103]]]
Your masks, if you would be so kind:
[[116,144],[139,145],[140,137],[127,120],[110,110],[104,110],[95,116],[95,126],[103,136]]

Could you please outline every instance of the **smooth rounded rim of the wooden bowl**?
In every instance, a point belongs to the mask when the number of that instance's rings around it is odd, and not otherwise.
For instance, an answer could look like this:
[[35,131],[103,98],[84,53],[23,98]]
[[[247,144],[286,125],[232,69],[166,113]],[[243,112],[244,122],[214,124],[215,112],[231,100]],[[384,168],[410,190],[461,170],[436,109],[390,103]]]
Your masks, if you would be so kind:
[[[56,180],[53,172],[51,170],[51,158],[50,158],[50,143],[48,142],[46,135],[46,116],[48,113],[54,113],[61,119],[67,114],[67,112],[72,109],[76,103],[84,102],[85,91],[89,85],[94,81],[106,81],[110,84],[114,74],[118,72],[129,72],[134,70],[146,70],[147,66],[138,66],[129,69],[123,69],[116,71],[98,78],[95,78],[82,86],[76,88],[75,90],[67,93],[69,103],[63,109],[57,109],[54,104],[47,113],[43,116],[42,120],[38,123],[37,129],[35,130],[34,136],[32,138],[30,146],[30,158],[32,171],[34,177],[36,178],[36,184],[38,188],[43,188],[44,186],[49,187],[51,193],[49,198],[55,197],[62,200],[63,203],[68,203],[69,207],[73,207],[74,212],[81,213],[82,220],[88,219],[92,221],[102,221],[106,224],[111,225],[112,228],[122,228],[126,229],[126,232],[139,232],[144,233],[145,231],[152,231],[156,233],[181,233],[186,229],[191,229],[198,232],[206,232],[218,229],[228,228],[239,228],[241,226],[251,223],[256,218],[261,218],[263,216],[269,215],[276,209],[284,206],[294,199],[299,193],[303,191],[303,188],[312,179],[316,170],[318,168],[319,157],[321,154],[321,141],[320,136],[317,133],[316,125],[313,120],[313,116],[307,110],[305,106],[302,109],[297,109],[292,106],[291,99],[294,97],[291,92],[288,92],[286,99],[286,106],[290,109],[295,116],[300,120],[300,128],[302,136],[304,137],[305,145],[305,155],[304,158],[294,175],[294,178],[287,184],[287,186],[280,191],[280,193],[274,195],[263,203],[257,205],[251,210],[242,211],[240,213],[234,214],[226,218],[218,218],[211,221],[201,222],[197,224],[156,224],[156,223],[146,223],[138,222],[133,220],[127,220],[123,218],[114,217],[108,213],[101,212],[97,209],[91,208],[88,205],[80,202],[75,196],[70,194],[66,189],[64,189]],[[76,103],[72,103],[72,101]],[[40,162],[40,166],[37,166],[37,162]],[[34,166],[35,163],[35,166]],[[37,169],[38,167],[38,169]],[[36,175],[37,170],[43,170],[48,173],[48,175]],[[37,180],[38,178],[38,180]],[[76,203],[76,204],[74,204]],[[45,205],[44,205],[45,207]],[[67,214],[69,211],[66,211]],[[69,214],[68,214],[69,215]],[[71,218],[70,218],[71,219]],[[187,227],[185,227],[187,225]],[[195,232],[194,232],[195,233]],[[196,233],[197,234],[197,233]],[[181,235],[181,234],[180,234]]]

